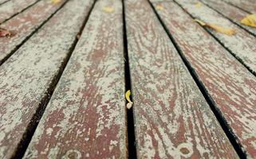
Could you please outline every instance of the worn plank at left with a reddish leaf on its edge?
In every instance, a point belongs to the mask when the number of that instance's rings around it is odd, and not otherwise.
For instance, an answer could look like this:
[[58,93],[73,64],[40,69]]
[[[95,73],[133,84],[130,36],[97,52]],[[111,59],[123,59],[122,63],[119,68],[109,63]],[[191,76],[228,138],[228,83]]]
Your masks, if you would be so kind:
[[0,38],[0,64],[2,64],[2,61],[5,60],[6,57],[10,56],[10,53],[18,45],[22,44],[22,41],[26,41],[26,38],[29,37],[31,33],[53,15],[64,2],[65,0],[53,5],[48,0],[42,0],[30,7],[30,9],[22,12],[22,14],[18,14],[3,23],[1,27],[12,31],[14,36]]

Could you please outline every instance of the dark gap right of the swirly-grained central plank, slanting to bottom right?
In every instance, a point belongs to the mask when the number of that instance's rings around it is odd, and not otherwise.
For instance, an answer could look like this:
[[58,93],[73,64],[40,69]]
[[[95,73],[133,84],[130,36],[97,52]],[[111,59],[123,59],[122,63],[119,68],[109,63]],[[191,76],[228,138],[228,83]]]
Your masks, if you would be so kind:
[[[148,0],[148,2],[149,2],[149,0]],[[156,14],[156,17],[158,17],[160,23],[163,25],[163,29],[166,31],[172,44],[175,46],[177,52],[179,53],[179,56],[183,60],[183,63],[186,65],[188,71],[191,73],[191,76],[195,80],[195,83],[199,87],[199,90],[203,94],[204,98],[207,100],[207,103],[211,107],[211,111],[215,114],[215,117],[217,118],[220,126],[222,126],[223,131],[226,134],[226,137],[230,140],[230,143],[233,145],[235,151],[238,153],[238,156],[240,158],[246,158],[246,151],[243,150],[241,143],[238,141],[237,136],[234,134],[234,131],[231,129],[228,122],[226,121],[226,118],[223,116],[222,111],[219,109],[219,107],[217,107],[215,100],[212,99],[211,95],[207,91],[207,88],[204,87],[203,82],[201,80],[199,80],[199,76],[196,74],[195,69],[191,66],[190,62],[183,55],[183,51],[181,50],[181,48],[179,48],[179,45],[176,43],[175,38],[172,37],[171,33],[168,31],[167,26],[162,21],[160,15],[157,14],[157,11],[155,10],[154,6],[152,5],[152,2],[149,2],[149,3],[151,4],[152,9],[154,10],[154,12]],[[180,5],[178,4],[178,6],[180,6]]]

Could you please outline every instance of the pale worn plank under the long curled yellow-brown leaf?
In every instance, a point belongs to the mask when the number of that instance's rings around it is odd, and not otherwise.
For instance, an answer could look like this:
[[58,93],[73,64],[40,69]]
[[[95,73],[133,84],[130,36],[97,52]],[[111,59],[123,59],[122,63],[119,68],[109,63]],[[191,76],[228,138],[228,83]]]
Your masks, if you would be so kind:
[[235,29],[236,34],[228,36],[207,28],[226,48],[229,48],[233,52],[234,56],[242,60],[242,63],[256,75],[256,38],[253,35],[241,29],[238,25],[234,25],[233,22],[227,20],[208,6],[202,5],[201,7],[196,7],[197,0],[191,0],[189,2],[187,0],[176,0],[176,2],[195,18],[207,23]]

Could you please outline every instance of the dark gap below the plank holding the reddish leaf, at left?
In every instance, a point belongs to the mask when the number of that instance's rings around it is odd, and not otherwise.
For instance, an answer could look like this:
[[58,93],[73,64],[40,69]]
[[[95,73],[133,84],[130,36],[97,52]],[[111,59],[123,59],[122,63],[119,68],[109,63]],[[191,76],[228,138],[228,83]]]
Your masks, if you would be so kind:
[[67,2],[69,2],[69,0],[65,1],[57,10],[55,10],[55,11],[53,12],[53,14],[49,15],[49,17],[47,17],[47,18],[45,19],[45,21],[43,21],[40,25],[38,25],[37,28],[34,29],[34,30],[30,33],[30,35],[28,35],[23,41],[21,41],[20,44],[16,45],[16,46],[14,47],[14,49],[13,49],[12,51],[10,51],[10,53],[8,53],[2,60],[0,60],[0,66],[1,66],[4,62],[6,62],[6,60],[8,60],[8,59],[10,58],[10,56],[12,56],[12,55],[14,54],[14,52],[16,52],[16,51],[18,50],[18,48],[20,48],[22,45],[24,45],[24,44],[26,43],[26,41],[28,41],[28,40],[30,39],[30,37],[33,36],[33,34],[37,33],[37,31],[38,31],[39,29],[41,29],[41,27],[42,27],[43,25],[45,25],[45,23],[46,23],[47,21],[49,21],[49,19],[50,19],[51,17],[53,17],[53,15],[57,13],[57,11],[61,10],[61,8],[62,8],[63,6],[65,6],[65,4],[66,4]]

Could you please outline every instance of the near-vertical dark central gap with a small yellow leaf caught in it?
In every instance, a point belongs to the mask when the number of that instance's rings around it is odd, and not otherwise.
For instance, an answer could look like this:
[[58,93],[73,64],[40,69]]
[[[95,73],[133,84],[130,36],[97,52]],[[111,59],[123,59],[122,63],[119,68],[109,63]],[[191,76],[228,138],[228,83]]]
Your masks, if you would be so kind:
[[[125,21],[125,5],[124,0],[122,0],[123,6],[123,36],[124,36],[124,78],[125,78],[125,91],[132,91],[132,81],[129,67],[129,57],[128,57],[128,39],[126,31],[126,21]],[[132,99],[132,95],[131,95]],[[126,101],[127,104],[127,101]],[[126,107],[126,106],[124,106]],[[127,115],[127,134],[128,134],[128,158],[136,159],[136,135],[135,135],[135,123],[134,123],[134,114],[133,107],[126,109]]]

